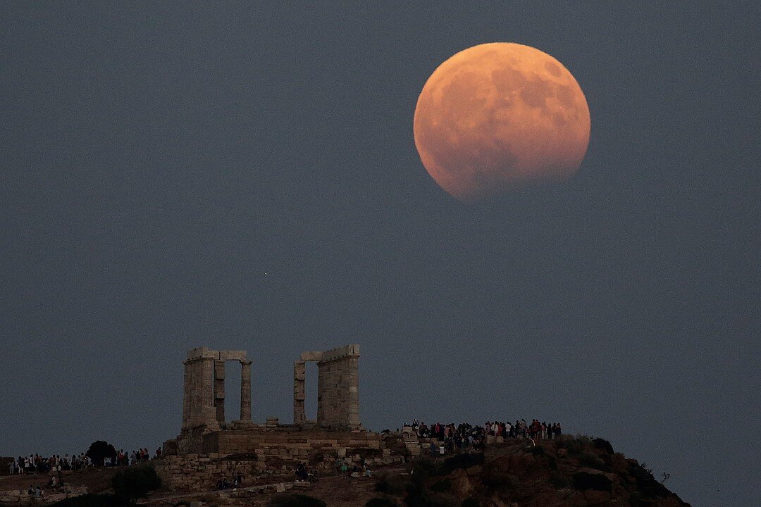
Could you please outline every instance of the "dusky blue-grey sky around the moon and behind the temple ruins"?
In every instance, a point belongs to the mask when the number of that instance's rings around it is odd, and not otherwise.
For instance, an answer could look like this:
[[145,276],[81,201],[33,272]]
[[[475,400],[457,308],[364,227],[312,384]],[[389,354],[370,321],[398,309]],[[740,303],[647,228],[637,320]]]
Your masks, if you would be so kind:
[[[559,421],[761,505],[761,7],[623,4],[0,3],[0,455],[158,447],[201,345],[290,422],[298,354],[356,343],[370,429]],[[487,42],[559,59],[591,139],[464,204],[412,115]]]

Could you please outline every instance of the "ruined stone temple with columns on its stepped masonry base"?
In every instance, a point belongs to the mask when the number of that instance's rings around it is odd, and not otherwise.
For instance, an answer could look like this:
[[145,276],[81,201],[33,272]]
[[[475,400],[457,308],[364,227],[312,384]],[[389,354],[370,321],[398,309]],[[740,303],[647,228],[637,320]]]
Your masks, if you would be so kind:
[[[224,420],[225,365],[240,363],[240,419]],[[304,413],[306,363],[317,363],[317,419]],[[359,346],[304,352],[294,363],[293,423],[275,417],[251,420],[251,364],[244,350],[189,350],[185,366],[183,424],[164,442],[154,466],[170,490],[209,490],[218,480],[243,474],[247,480],[292,477],[307,462],[320,473],[336,463],[401,463],[403,442],[362,429],[359,420]],[[419,446],[418,446],[419,447]]]

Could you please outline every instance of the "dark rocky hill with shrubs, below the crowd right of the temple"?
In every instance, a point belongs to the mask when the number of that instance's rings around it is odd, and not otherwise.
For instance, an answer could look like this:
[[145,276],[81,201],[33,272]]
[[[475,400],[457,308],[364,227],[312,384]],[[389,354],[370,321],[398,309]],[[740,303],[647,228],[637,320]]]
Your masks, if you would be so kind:
[[[528,443],[527,443],[528,442]],[[485,452],[444,461],[418,461],[406,477],[383,477],[387,499],[409,507],[553,507],[689,505],[651,471],[587,437],[559,441],[508,440]]]

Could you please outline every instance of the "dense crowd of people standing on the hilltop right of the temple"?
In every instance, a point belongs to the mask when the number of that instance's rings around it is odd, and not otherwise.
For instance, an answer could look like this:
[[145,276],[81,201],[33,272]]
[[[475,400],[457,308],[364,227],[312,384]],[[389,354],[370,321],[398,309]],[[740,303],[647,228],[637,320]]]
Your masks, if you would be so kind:
[[405,423],[413,433],[422,439],[435,439],[443,442],[438,447],[431,442],[431,455],[443,455],[445,452],[467,451],[468,449],[479,450],[486,445],[487,437],[502,439],[530,439],[537,440],[559,439],[562,436],[560,423],[543,423],[533,419],[531,423],[526,420],[516,420],[515,423],[501,421],[486,421],[483,426],[473,426],[470,423],[442,424],[435,423],[431,426],[423,421],[413,420],[411,424]]

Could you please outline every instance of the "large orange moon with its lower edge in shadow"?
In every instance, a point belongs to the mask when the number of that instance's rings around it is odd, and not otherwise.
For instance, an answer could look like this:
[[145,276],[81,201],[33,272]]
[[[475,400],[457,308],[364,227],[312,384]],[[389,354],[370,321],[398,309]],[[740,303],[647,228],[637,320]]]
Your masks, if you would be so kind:
[[414,132],[438,185],[460,201],[477,201],[573,176],[587,153],[589,107],[552,56],[521,44],[481,44],[431,74]]

